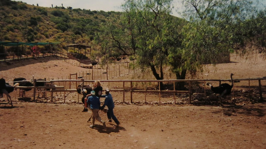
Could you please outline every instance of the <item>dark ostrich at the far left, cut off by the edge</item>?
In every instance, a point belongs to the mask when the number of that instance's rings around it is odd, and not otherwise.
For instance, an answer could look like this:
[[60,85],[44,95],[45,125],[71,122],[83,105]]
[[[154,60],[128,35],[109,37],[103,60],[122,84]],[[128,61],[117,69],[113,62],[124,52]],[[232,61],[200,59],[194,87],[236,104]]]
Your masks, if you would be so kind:
[[6,95],[8,103],[10,102],[11,107],[13,106],[13,104],[12,104],[11,96],[9,95],[9,93],[14,90],[15,86],[18,86],[18,84],[16,83],[14,86],[11,86],[5,82],[4,78],[0,78],[0,94]]

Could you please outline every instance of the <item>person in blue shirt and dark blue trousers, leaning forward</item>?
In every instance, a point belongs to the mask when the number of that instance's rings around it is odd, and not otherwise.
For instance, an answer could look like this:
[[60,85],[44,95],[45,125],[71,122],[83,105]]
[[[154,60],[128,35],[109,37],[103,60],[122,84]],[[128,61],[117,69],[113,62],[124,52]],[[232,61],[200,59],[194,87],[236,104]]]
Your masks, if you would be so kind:
[[105,93],[106,93],[106,95],[102,95],[102,97],[105,97],[105,102],[104,102],[104,105],[100,107],[100,109],[104,109],[104,107],[107,106],[108,107],[107,117],[109,119],[109,122],[112,122],[112,119],[113,119],[115,121],[115,123],[117,124],[117,127],[118,127],[120,122],[118,121],[117,117],[114,114],[115,104],[113,101],[113,97],[110,94],[109,89],[106,89]]

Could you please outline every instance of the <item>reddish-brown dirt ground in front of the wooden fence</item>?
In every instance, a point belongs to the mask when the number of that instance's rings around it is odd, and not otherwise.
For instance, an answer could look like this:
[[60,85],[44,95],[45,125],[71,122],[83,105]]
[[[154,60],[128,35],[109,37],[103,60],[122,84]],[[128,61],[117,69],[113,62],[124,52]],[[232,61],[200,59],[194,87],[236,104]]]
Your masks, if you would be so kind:
[[[265,149],[266,104],[116,105],[121,122],[87,123],[80,104],[0,104],[1,149]],[[231,113],[231,116],[227,116]],[[100,112],[102,119],[106,115]]]

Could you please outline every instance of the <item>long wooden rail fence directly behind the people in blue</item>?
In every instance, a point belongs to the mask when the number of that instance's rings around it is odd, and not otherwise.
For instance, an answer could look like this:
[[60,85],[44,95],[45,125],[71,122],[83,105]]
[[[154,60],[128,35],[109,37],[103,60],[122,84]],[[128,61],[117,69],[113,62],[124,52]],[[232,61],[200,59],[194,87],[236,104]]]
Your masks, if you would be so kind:
[[[173,93],[174,94],[174,103],[176,104],[176,100],[175,100],[175,95],[176,93],[185,93],[185,94],[188,94],[188,97],[189,97],[189,101],[188,103],[191,103],[191,95],[193,94],[192,92],[192,82],[203,82],[204,84],[206,84],[206,82],[211,82],[211,81],[218,81],[218,82],[222,82],[222,81],[230,81],[231,79],[184,79],[184,80],[177,80],[177,79],[172,79],[172,80],[100,80],[102,83],[108,83],[107,86],[105,87],[108,87],[110,88],[110,90],[112,92],[123,92],[123,102],[126,101],[125,99],[125,93],[126,92],[130,92],[130,102],[133,102],[133,92],[139,92],[139,93],[150,93],[150,92],[153,92],[153,93],[158,93],[158,96],[159,96],[159,103],[161,103],[161,93]],[[260,93],[260,100],[264,100],[263,99],[263,85],[262,85],[262,80],[266,80],[265,77],[263,78],[243,78],[243,79],[234,79],[234,81],[236,80],[239,80],[239,81],[249,81],[249,91],[250,91],[250,81],[252,80],[257,80],[258,81],[258,86],[259,86],[259,93]],[[95,80],[84,80],[84,82],[86,83],[91,83],[93,84]],[[35,80],[36,82],[36,80]],[[42,82],[42,81],[39,81],[39,82]],[[47,81],[46,81],[47,82]],[[82,80],[80,79],[57,79],[57,80],[50,80],[48,81],[50,82],[52,85],[52,87],[50,87],[50,91],[51,91],[51,101],[53,101],[53,93],[54,92],[64,92],[64,94],[66,92],[76,92],[76,87],[77,87],[77,84],[80,84],[82,82]],[[65,86],[55,86],[54,84],[56,83],[59,83],[60,84],[71,84],[71,82],[75,82],[73,84],[76,84],[76,86],[71,86],[69,85],[69,88],[67,88],[67,85]],[[112,86],[109,85],[110,82],[119,82],[119,83],[122,83],[123,85],[119,86],[120,88],[112,88]],[[133,83],[137,83],[137,82],[140,82],[140,83],[147,83],[147,82],[155,82],[158,84],[158,89],[155,90],[155,89],[147,89],[147,87],[145,87],[144,89],[139,89],[139,88],[136,88],[136,87],[133,87]],[[175,90],[175,87],[173,87],[173,90],[161,90],[160,88],[160,83],[159,82],[172,82],[173,83],[173,86],[175,86],[176,83],[178,82],[187,82],[188,84],[188,90]],[[125,86],[125,83],[130,83],[130,86],[129,87],[126,87]],[[74,88],[73,88],[74,87]],[[26,87],[18,87],[18,88],[26,88]],[[43,87],[35,87],[35,86],[30,86],[30,87],[27,87],[27,88],[34,88],[34,100],[35,100],[35,88],[43,88]],[[45,87],[47,88],[47,87]],[[234,98],[235,98],[235,85],[233,87],[233,95],[234,95]],[[204,94],[205,94],[205,97],[206,97],[206,87],[204,87]],[[64,96],[65,98],[65,96]],[[65,99],[64,99],[65,101]]]

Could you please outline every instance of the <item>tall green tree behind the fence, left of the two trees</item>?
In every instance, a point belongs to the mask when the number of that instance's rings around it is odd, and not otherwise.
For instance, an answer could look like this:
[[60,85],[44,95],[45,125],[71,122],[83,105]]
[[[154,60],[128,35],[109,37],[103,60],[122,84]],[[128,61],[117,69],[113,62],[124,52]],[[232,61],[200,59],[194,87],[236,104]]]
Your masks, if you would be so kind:
[[172,0],[127,0],[123,5],[124,22],[131,38],[137,64],[149,68],[156,79],[163,79],[172,29]]

